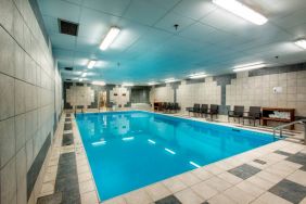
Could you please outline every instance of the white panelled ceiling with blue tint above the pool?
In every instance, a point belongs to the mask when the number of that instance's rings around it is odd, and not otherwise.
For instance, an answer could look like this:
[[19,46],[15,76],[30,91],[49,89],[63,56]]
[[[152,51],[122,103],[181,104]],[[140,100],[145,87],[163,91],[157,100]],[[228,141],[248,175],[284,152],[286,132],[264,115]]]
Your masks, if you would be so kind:
[[[306,51],[293,43],[306,36],[306,0],[243,2],[268,23],[254,25],[211,0],[38,0],[59,66],[75,68],[62,69],[63,78],[87,71],[88,80],[144,84],[195,72],[231,73],[234,65],[257,61],[306,61]],[[79,23],[78,37],[60,34],[58,18]],[[111,26],[122,31],[101,51]],[[89,59],[99,61],[90,71]]]

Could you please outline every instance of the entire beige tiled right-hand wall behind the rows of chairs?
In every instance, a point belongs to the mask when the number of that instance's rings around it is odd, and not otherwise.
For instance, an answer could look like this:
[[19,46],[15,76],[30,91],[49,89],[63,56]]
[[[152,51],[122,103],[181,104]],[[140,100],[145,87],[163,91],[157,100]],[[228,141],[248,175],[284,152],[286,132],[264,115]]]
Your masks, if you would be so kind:
[[[273,92],[273,88],[281,92]],[[238,74],[182,80],[177,87],[160,85],[152,89],[150,101],[174,102],[182,112],[194,103],[218,104],[220,115],[233,105],[295,109],[297,117],[306,117],[306,64],[268,67]]]

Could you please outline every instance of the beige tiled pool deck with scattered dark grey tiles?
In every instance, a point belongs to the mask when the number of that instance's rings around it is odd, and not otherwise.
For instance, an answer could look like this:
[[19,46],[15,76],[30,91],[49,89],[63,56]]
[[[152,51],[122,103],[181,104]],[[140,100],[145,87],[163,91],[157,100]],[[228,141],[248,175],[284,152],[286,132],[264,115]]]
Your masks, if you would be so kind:
[[[38,203],[99,203],[73,114],[62,117]],[[280,140],[103,202],[306,204],[306,146]]]

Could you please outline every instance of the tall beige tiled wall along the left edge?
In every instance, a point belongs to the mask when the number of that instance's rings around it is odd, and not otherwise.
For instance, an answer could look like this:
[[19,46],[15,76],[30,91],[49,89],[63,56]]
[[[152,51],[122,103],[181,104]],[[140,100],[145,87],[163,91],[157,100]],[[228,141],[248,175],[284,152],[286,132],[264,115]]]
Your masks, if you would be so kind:
[[61,112],[61,77],[50,50],[29,2],[1,0],[1,204],[27,203],[28,170]]

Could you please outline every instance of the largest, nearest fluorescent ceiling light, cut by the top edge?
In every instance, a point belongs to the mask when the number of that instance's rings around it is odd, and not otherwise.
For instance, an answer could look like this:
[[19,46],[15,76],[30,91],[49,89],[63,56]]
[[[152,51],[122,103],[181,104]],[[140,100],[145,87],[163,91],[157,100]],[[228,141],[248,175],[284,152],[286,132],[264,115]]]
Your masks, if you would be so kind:
[[237,0],[213,0],[213,3],[256,25],[264,25],[267,17]]

